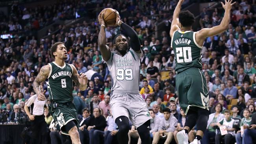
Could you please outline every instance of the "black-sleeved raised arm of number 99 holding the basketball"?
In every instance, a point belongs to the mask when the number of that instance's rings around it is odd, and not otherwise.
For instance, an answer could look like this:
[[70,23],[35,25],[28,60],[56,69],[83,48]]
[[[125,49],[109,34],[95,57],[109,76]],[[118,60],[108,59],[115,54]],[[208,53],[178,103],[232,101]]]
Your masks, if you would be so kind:
[[141,43],[139,42],[139,37],[138,37],[136,31],[132,27],[128,26],[128,24],[126,24],[120,20],[120,16],[119,16],[119,13],[117,10],[115,10],[115,13],[117,15],[116,25],[120,26],[122,28],[122,30],[125,30],[128,37],[130,37],[131,48],[135,52],[140,54],[141,53]]

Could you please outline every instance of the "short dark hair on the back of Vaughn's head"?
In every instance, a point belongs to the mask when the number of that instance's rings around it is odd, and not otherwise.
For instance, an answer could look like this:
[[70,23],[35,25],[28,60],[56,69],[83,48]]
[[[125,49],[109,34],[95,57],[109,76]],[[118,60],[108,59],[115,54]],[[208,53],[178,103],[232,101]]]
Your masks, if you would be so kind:
[[192,24],[195,22],[195,17],[193,13],[188,10],[181,11],[179,15],[179,21],[184,27],[192,26]]

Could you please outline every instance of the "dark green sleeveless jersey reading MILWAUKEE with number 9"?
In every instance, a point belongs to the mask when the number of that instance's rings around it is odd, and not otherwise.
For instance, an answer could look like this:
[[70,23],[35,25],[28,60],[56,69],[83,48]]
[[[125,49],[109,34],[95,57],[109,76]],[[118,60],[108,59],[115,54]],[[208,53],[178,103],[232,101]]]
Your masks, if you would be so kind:
[[73,68],[68,63],[65,63],[62,67],[55,62],[48,65],[50,65],[51,70],[46,83],[50,101],[58,103],[72,102],[73,81],[71,76]]

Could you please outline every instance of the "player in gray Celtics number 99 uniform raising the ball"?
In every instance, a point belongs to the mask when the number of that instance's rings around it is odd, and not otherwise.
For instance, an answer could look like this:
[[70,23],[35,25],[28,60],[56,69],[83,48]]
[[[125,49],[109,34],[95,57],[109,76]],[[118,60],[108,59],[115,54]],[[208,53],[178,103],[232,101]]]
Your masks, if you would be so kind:
[[128,50],[128,39],[124,35],[117,35],[114,46],[117,54],[111,52],[106,45],[105,22],[102,13],[98,15],[100,33],[98,44],[103,60],[107,63],[111,73],[111,98],[110,105],[113,118],[119,127],[119,144],[128,143],[129,118],[137,128],[142,144],[151,144],[149,126],[150,117],[145,100],[139,94],[139,70],[142,54],[141,44],[137,33],[120,20],[117,15],[116,25],[126,31],[131,40],[131,48]]

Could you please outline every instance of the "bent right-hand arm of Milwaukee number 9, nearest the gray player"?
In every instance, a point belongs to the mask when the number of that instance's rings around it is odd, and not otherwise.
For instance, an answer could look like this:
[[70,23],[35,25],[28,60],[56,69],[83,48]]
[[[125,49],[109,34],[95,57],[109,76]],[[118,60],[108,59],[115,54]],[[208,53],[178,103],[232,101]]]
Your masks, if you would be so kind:
[[86,90],[87,88],[87,81],[88,78],[84,73],[78,74],[76,68],[74,65],[71,65],[73,68],[73,74],[72,74],[72,80],[75,82],[75,84],[79,87],[80,90]]

